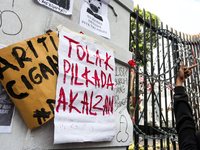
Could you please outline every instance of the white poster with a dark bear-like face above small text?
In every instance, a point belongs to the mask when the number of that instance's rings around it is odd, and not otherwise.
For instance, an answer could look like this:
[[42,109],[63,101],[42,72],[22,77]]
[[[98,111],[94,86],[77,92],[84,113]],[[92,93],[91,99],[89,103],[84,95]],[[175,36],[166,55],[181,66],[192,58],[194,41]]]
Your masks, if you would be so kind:
[[110,39],[110,25],[107,18],[110,0],[83,0],[80,12],[80,25]]

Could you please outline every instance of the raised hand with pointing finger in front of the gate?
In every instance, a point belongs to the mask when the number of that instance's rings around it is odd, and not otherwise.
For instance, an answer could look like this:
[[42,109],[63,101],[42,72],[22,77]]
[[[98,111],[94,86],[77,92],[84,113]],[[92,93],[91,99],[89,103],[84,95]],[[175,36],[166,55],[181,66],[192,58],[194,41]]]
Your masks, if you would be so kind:
[[184,63],[182,62],[179,69],[178,77],[176,79],[176,86],[182,86],[182,83],[185,81],[185,79],[192,74],[192,71],[190,71],[190,69],[197,66],[197,64],[190,67],[183,67],[183,65]]

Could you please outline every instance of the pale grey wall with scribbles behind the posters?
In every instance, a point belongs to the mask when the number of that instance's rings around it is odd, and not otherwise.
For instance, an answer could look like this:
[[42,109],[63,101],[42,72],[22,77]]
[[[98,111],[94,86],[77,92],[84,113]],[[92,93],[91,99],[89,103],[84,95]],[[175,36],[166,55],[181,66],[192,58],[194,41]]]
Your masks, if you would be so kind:
[[[113,10],[108,8],[108,20],[110,23],[110,33],[111,38],[106,39],[93,32],[81,27],[79,25],[81,0],[74,0],[73,13],[71,16],[66,16],[58,12],[52,11],[47,7],[43,7],[34,0],[1,0],[0,1],[0,11],[8,12],[2,15],[2,22],[0,26],[0,44],[10,45],[14,44],[41,34],[44,34],[47,30],[56,30],[58,25],[63,25],[68,29],[75,32],[83,32],[83,34],[91,36],[110,47],[115,49],[116,58],[116,69],[122,69],[125,75],[121,75],[116,72],[116,78],[123,78],[128,80],[128,70],[129,68],[124,66],[123,63],[127,64],[128,60],[132,59],[132,55],[129,52],[129,24],[130,24],[130,12],[119,5],[123,3],[129,10],[133,8],[132,0],[111,0],[110,5],[114,8],[117,17],[114,15]],[[22,30],[17,35],[8,35],[3,31],[15,32],[20,29],[20,21],[16,18],[16,15],[9,14],[10,11],[16,13],[22,24]],[[122,64],[120,64],[120,63]],[[128,83],[128,82],[127,82]],[[122,85],[121,85],[122,86]],[[119,129],[120,116],[129,116],[126,105],[127,105],[127,94],[128,94],[128,84],[124,84],[125,93],[118,94],[118,101],[114,108],[118,107],[117,104],[122,105],[122,109],[116,109],[115,115],[116,133]],[[125,97],[126,101],[124,101]],[[10,150],[38,150],[38,149],[110,149],[110,150],[125,150],[126,146],[132,143],[132,122],[130,118],[127,119],[127,131],[129,133],[129,139],[126,142],[122,142],[116,139],[113,142],[101,142],[101,143],[80,143],[80,144],[53,144],[53,132],[54,124],[53,119],[45,123],[39,128],[34,130],[29,130],[23,121],[18,110],[15,111],[13,118],[12,132],[11,134],[0,134],[1,148],[0,149],[10,149]]]

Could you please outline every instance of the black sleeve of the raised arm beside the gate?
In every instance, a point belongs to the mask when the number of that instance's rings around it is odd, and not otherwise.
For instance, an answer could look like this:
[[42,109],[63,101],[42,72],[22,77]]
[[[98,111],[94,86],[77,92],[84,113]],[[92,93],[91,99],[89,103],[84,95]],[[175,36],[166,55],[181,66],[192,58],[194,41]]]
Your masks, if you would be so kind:
[[198,150],[195,124],[192,118],[192,109],[188,104],[188,96],[185,93],[185,88],[182,86],[175,88],[174,111],[179,139],[179,149]]

